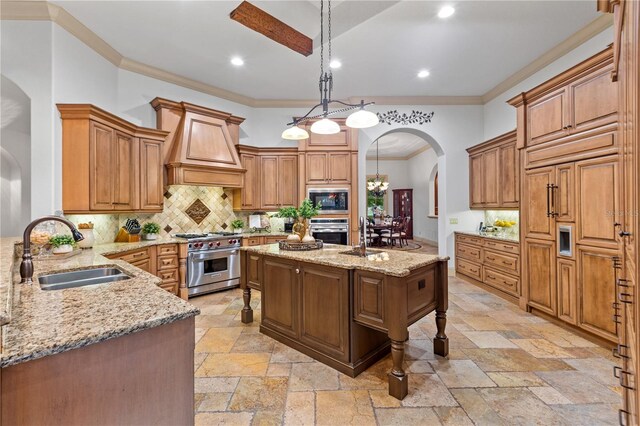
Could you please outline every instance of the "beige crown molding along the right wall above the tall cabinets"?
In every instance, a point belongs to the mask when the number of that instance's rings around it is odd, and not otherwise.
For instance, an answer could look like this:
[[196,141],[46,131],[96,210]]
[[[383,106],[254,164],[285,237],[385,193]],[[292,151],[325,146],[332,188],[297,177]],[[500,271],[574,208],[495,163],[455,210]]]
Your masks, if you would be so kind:
[[599,16],[598,18],[591,21],[591,23],[589,23],[586,27],[577,31],[565,41],[561,42],[560,44],[540,56],[538,59],[531,62],[529,65],[522,68],[520,71],[516,72],[511,77],[508,77],[506,80],[499,83],[496,87],[482,95],[482,103],[486,104],[487,102],[495,99],[502,93],[514,87],[516,84],[523,82],[553,61],[566,55],[576,47],[580,46],[590,38],[600,34],[602,31],[612,25],[613,15],[604,14],[602,16]]

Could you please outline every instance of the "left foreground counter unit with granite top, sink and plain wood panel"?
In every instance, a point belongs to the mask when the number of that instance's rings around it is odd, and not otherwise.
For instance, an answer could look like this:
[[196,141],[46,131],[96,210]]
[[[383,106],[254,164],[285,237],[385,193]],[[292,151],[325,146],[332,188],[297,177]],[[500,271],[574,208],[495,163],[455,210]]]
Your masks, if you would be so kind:
[[[21,284],[15,241],[0,240],[0,423],[193,424],[199,310],[160,288],[160,278],[103,256],[127,244],[36,258],[34,283]],[[60,290],[38,284],[49,273],[99,267],[129,278]]]

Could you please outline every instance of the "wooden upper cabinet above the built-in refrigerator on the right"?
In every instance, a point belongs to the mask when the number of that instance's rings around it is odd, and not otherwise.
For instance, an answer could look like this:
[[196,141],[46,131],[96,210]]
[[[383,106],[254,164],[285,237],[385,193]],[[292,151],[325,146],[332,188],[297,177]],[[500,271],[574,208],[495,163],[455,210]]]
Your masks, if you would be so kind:
[[611,47],[509,103],[518,109],[524,167],[548,166],[618,150],[618,87]]

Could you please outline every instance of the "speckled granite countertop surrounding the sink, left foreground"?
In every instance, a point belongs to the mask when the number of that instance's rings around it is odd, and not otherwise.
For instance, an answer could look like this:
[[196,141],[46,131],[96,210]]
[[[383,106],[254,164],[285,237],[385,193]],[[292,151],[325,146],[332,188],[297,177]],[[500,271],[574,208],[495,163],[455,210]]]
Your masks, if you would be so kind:
[[[34,262],[34,283],[20,284],[18,268],[11,268],[15,238],[0,240],[0,291],[10,302],[3,326],[0,367],[80,348],[136,331],[198,315],[193,305],[158,287],[160,278],[126,262],[102,254],[178,242],[173,239],[98,245],[66,259]],[[182,240],[184,242],[184,240]],[[41,290],[40,275],[52,272],[115,266],[131,278],[98,286]],[[7,290],[7,288],[9,290]],[[11,292],[11,289],[13,291]]]

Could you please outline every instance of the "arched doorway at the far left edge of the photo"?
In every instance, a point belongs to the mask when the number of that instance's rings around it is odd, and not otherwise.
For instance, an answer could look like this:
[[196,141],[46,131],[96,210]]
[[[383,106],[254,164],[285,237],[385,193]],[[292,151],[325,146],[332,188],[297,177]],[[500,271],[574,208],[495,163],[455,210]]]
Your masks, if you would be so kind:
[[0,98],[0,236],[13,237],[31,220],[31,100],[5,76]]

